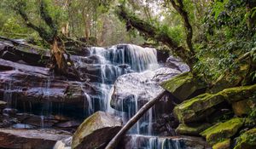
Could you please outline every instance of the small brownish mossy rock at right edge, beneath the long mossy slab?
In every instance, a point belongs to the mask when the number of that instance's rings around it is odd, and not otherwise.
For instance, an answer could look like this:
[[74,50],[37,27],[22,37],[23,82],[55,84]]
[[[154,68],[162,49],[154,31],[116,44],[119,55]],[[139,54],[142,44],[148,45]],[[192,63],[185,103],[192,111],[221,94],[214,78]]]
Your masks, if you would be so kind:
[[256,100],[239,100],[232,103],[236,116],[249,115],[256,106]]

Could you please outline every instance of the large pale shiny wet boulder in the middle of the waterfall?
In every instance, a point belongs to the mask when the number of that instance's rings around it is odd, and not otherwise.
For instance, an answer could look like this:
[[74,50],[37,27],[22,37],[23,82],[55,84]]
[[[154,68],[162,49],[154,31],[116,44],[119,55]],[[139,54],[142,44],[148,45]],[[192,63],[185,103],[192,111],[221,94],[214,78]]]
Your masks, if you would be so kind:
[[[159,83],[179,73],[174,69],[160,68],[156,71],[125,74],[114,83],[111,106],[123,112],[127,112],[131,108],[128,106],[131,105],[137,105],[135,108],[139,109],[161,92],[162,88]],[[166,106],[165,100],[160,102],[162,108]]]

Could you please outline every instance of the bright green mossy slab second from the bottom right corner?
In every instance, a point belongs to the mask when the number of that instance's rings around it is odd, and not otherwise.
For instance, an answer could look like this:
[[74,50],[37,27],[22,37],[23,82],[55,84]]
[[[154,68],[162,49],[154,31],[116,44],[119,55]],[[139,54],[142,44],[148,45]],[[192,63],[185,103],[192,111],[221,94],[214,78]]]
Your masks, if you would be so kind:
[[209,144],[214,145],[236,135],[236,132],[241,128],[243,123],[243,118],[235,117],[224,123],[217,123],[213,125],[201,132],[201,135],[207,138],[207,142],[209,142]]

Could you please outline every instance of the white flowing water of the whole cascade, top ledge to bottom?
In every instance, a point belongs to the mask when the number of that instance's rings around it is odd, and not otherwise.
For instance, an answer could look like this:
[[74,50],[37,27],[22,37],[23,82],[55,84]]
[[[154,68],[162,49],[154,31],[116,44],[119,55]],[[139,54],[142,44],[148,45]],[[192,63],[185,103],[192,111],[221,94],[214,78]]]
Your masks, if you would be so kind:
[[[157,60],[156,49],[142,48],[136,45],[125,44],[115,45],[110,48],[90,48],[89,57],[96,57],[96,62],[92,64],[94,67],[99,67],[100,72],[96,74],[99,78],[95,81],[95,85],[100,89],[99,95],[90,96],[84,92],[84,113],[86,117],[98,110],[110,112],[116,116],[122,117],[124,122],[127,122],[134,114],[137,113],[142,106],[139,103],[140,96],[136,93],[131,97],[131,103],[127,104],[123,100],[119,100],[121,110],[114,110],[110,106],[113,84],[118,77],[132,73],[132,72],[145,72],[149,70],[156,70],[160,68]],[[82,60],[79,60],[77,66],[84,66]],[[145,73],[146,74],[146,73]],[[143,77],[143,75],[142,75]],[[133,81],[133,80],[125,80]],[[144,80],[147,82],[147,80]],[[128,87],[129,88],[129,87]],[[150,89],[148,94],[153,94],[154,89]],[[98,104],[96,104],[98,99]],[[128,106],[128,110],[124,109]],[[129,134],[132,135],[131,148],[140,149],[180,149],[182,148],[178,140],[160,139],[159,137],[150,137],[148,140],[138,143],[138,136],[154,135],[152,132],[152,121],[154,115],[154,108],[151,108],[145,116],[130,130]],[[63,144],[59,141],[55,148],[64,148]]]

